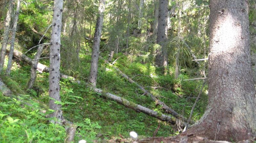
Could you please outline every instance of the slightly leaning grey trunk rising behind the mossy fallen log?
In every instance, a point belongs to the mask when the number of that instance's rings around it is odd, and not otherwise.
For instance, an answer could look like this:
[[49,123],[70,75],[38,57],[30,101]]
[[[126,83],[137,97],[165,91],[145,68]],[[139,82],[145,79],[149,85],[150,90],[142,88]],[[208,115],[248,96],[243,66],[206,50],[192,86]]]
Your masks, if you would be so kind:
[[94,39],[93,39],[93,50],[92,50],[92,61],[89,75],[89,82],[96,86],[97,74],[98,74],[98,61],[100,51],[100,38],[103,25],[103,12],[105,11],[105,0],[99,1],[99,16],[97,18]]

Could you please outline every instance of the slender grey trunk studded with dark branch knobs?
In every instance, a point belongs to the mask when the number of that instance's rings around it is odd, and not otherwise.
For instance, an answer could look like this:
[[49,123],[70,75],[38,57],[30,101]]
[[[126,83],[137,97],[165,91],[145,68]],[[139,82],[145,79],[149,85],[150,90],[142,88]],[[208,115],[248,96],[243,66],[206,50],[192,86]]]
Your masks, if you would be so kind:
[[50,117],[55,117],[57,121],[51,121],[62,125],[61,104],[55,104],[55,101],[61,102],[60,98],[60,48],[61,48],[61,27],[62,27],[62,9],[63,0],[54,0],[53,26],[50,45],[50,75],[49,75],[49,96],[50,109],[54,112]]

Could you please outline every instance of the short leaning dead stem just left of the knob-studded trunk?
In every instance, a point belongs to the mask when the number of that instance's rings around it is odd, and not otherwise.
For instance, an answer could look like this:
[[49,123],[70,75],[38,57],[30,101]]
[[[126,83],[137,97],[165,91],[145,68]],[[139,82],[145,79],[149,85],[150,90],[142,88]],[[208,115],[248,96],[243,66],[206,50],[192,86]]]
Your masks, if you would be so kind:
[[38,46],[38,49],[37,49],[37,53],[34,57],[34,60],[32,60],[32,65],[31,65],[31,68],[30,68],[30,79],[29,79],[29,82],[28,82],[28,86],[27,86],[27,89],[31,89],[33,86],[34,86],[34,83],[36,81],[36,78],[37,78],[37,65],[38,65],[38,62],[39,62],[39,58],[41,57],[41,54],[43,53],[43,46]]

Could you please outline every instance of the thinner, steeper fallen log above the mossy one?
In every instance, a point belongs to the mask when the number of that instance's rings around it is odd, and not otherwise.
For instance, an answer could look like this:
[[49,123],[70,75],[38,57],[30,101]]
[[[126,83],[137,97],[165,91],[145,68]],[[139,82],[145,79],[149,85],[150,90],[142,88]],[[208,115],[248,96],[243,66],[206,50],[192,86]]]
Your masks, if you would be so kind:
[[[101,59],[103,59],[103,57],[100,56]],[[148,90],[144,89],[142,86],[140,86],[137,82],[133,81],[131,78],[129,78],[126,74],[124,74],[119,68],[116,68],[115,66],[113,66],[110,62],[108,62],[107,60],[103,59],[105,61],[105,63],[109,64],[112,68],[114,68],[123,78],[127,79],[130,83],[134,83],[139,89],[141,89],[143,92],[145,92],[146,95],[150,96],[151,99],[153,101],[155,101],[155,103],[157,105],[161,105],[162,108],[169,114],[173,115],[175,118],[179,119],[181,118],[183,121],[187,122],[187,118],[185,118],[184,116],[178,114],[176,111],[174,111],[173,109],[171,109],[169,106],[167,106],[166,104],[164,104],[162,101],[160,101],[159,99],[157,99],[156,97],[153,96],[153,94],[151,94]],[[194,121],[190,121],[192,124],[194,124]]]

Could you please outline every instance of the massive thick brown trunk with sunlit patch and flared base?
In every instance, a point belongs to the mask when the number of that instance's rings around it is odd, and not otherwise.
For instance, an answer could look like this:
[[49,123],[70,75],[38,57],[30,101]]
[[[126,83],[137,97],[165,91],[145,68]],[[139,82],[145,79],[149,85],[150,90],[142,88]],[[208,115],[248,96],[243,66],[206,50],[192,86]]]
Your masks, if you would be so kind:
[[208,106],[186,135],[227,141],[255,136],[255,89],[250,66],[247,1],[211,0]]

